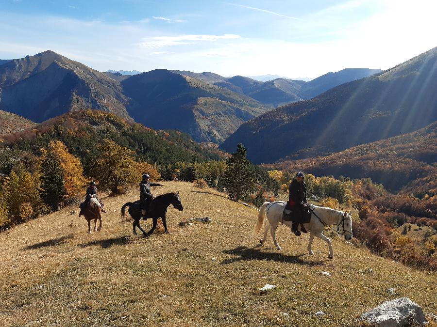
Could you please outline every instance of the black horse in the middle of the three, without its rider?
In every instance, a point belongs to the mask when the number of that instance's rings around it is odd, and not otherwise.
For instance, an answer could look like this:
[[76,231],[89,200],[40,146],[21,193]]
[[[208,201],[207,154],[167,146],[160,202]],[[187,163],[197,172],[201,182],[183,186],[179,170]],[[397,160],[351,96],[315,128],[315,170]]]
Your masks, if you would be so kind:
[[121,217],[124,221],[124,211],[126,210],[126,207],[129,206],[128,212],[129,215],[131,215],[132,218],[134,218],[134,234],[136,235],[135,227],[138,227],[141,232],[143,232],[144,236],[147,237],[150,234],[153,233],[153,231],[156,228],[156,223],[158,221],[158,218],[162,218],[162,224],[164,225],[164,231],[165,233],[169,233],[167,229],[167,223],[166,223],[166,213],[167,208],[170,204],[173,204],[173,206],[179,211],[184,210],[184,207],[182,206],[181,198],[179,197],[179,192],[177,193],[166,193],[163,195],[159,195],[156,198],[153,199],[153,201],[150,204],[150,211],[147,213],[148,218],[153,219],[153,227],[149,232],[145,232],[141,226],[139,225],[139,221],[142,218],[141,214],[141,202],[135,201],[135,202],[127,202],[121,207]]

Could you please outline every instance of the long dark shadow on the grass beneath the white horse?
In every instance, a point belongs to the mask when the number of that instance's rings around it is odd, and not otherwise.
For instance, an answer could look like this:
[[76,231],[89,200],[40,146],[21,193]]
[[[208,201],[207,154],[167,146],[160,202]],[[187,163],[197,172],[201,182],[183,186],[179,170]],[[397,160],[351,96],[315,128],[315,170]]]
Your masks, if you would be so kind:
[[306,254],[299,254],[299,255],[287,255],[283,253],[278,252],[264,252],[260,251],[259,246],[248,248],[248,247],[237,247],[235,249],[230,250],[224,250],[222,253],[231,254],[238,256],[237,258],[232,259],[226,259],[223,260],[220,264],[221,265],[227,265],[235,261],[241,261],[241,260],[269,260],[269,261],[278,261],[278,262],[287,262],[292,264],[298,264],[298,265],[307,265],[307,266],[315,266],[315,265],[323,265],[324,262],[319,261],[304,261],[301,259],[302,256]]

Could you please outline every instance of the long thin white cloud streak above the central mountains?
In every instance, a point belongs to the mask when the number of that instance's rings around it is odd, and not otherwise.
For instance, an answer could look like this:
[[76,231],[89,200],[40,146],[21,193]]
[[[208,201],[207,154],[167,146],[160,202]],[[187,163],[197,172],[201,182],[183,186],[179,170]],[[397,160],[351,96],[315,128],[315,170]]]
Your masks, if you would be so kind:
[[236,34],[207,35],[207,34],[186,34],[179,36],[152,36],[143,38],[143,42],[137,44],[142,48],[169,47],[188,44],[197,44],[204,41],[217,41],[223,39],[238,39]]

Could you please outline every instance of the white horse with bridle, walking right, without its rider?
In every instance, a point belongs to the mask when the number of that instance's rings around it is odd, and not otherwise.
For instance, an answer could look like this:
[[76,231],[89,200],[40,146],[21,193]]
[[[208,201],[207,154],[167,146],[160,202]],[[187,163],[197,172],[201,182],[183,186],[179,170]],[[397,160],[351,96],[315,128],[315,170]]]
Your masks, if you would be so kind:
[[[255,225],[255,229],[253,231],[254,235],[257,235],[261,228],[263,227],[264,216],[267,216],[268,223],[264,228],[264,238],[260,240],[261,245],[266,242],[267,232],[271,227],[271,236],[273,237],[273,243],[275,244],[276,249],[282,250],[281,247],[276,242],[276,229],[279,226],[279,223],[282,223],[289,228],[291,228],[291,221],[283,221],[282,213],[284,211],[284,207],[286,202],[278,201],[278,202],[264,202],[259,209],[258,213],[258,221]],[[319,207],[317,205],[310,204],[312,215],[310,222],[307,224],[303,224],[305,229],[310,233],[310,239],[308,243],[308,253],[313,255],[314,252],[311,250],[311,244],[313,243],[314,236],[319,237],[328,243],[329,248],[329,257],[331,259],[334,258],[334,251],[332,249],[331,240],[322,234],[325,226],[328,225],[337,225],[337,232],[341,231],[344,234],[344,238],[349,241],[352,238],[352,211],[349,213],[334,210],[326,207]],[[318,218],[319,217],[319,218]],[[301,226],[299,225],[299,229]]]

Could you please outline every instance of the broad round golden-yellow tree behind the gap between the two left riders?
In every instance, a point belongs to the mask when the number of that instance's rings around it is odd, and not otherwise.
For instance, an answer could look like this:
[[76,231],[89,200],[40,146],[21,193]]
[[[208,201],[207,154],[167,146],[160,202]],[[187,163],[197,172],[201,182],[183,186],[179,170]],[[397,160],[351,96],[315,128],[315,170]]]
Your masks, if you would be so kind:
[[113,194],[119,187],[132,185],[141,180],[141,172],[134,161],[135,152],[112,140],[99,145],[94,160],[93,175],[102,188],[110,188]]

